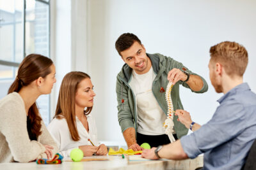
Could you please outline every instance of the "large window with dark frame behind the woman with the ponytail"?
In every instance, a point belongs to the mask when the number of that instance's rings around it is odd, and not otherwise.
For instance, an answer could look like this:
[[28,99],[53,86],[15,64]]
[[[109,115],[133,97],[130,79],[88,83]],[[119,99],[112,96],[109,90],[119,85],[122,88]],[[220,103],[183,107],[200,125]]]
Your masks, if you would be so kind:
[[[0,98],[6,96],[29,53],[49,57],[49,1],[0,0]],[[36,101],[45,124],[50,118],[49,100],[44,95]]]

